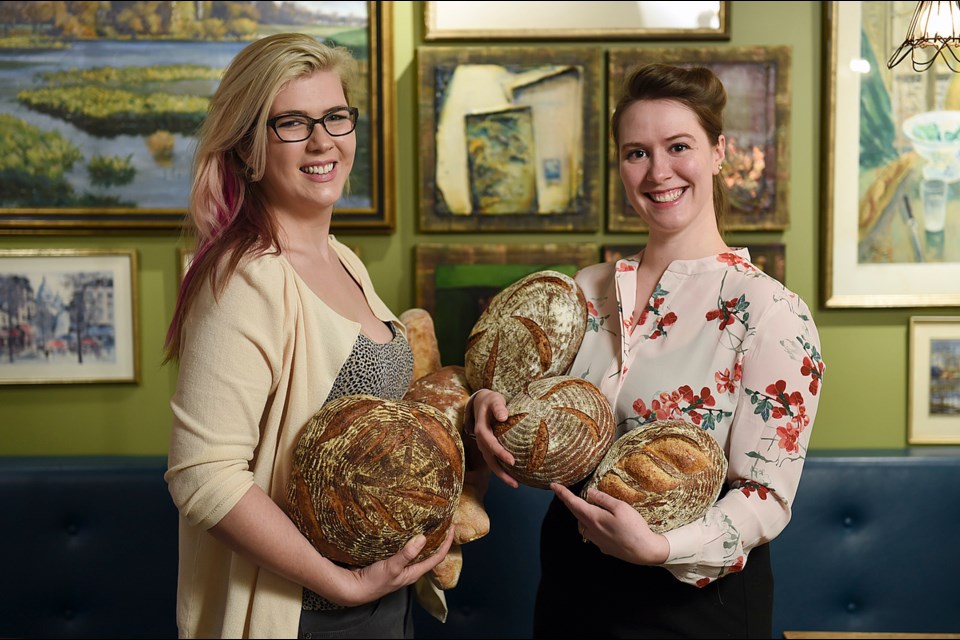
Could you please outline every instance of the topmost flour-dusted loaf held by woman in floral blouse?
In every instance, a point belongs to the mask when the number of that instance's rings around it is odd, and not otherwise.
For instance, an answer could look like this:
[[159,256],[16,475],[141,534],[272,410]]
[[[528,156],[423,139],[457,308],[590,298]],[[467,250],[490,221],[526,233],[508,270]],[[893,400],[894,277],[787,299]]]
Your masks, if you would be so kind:
[[586,330],[587,303],[573,278],[524,276],[494,296],[467,337],[467,382],[509,400],[531,380],[566,373]]

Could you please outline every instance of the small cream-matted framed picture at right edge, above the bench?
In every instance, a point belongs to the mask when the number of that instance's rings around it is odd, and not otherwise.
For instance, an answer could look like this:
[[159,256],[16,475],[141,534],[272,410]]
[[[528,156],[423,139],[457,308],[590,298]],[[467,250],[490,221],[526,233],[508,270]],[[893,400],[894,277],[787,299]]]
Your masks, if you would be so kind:
[[960,317],[910,318],[910,444],[960,444]]

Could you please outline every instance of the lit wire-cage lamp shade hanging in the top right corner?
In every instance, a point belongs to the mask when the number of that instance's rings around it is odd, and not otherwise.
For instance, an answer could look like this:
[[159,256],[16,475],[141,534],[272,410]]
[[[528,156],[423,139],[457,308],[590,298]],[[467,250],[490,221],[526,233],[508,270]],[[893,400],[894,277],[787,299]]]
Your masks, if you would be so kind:
[[887,68],[910,56],[914,71],[926,71],[940,57],[951,71],[960,73],[960,58],[955,51],[960,47],[958,34],[960,2],[918,2],[906,38],[887,60]]

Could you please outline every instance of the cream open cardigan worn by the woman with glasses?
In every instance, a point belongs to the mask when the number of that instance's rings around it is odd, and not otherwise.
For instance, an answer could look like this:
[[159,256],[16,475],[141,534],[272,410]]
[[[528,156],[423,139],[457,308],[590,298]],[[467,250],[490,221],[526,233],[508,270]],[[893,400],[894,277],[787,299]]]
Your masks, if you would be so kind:
[[[360,260],[332,237],[330,246],[373,313],[405,330]],[[180,511],[181,637],[297,636],[302,587],[232,553],[207,529],[253,484],[283,504],[300,429],[359,333],[281,256],[244,260],[219,300],[209,285],[197,297],[184,325],[165,475]]]

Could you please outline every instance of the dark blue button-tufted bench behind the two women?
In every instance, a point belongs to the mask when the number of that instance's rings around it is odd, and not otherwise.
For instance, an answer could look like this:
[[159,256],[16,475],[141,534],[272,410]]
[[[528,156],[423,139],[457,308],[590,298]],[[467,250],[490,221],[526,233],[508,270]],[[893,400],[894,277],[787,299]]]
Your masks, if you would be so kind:
[[[177,515],[161,456],[0,457],[0,637],[175,638]],[[418,638],[530,636],[547,491],[492,481],[440,624]],[[960,450],[818,451],[772,543],[785,630],[960,632]],[[585,598],[589,594],[585,593]]]

